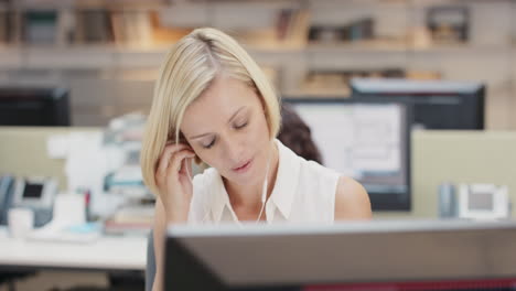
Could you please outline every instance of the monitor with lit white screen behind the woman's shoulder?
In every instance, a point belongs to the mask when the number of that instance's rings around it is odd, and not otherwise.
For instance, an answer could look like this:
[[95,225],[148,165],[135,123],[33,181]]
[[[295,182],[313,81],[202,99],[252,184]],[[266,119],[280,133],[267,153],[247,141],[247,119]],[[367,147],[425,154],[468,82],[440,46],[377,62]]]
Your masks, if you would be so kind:
[[377,98],[284,98],[322,164],[361,182],[374,211],[410,209],[410,106]]

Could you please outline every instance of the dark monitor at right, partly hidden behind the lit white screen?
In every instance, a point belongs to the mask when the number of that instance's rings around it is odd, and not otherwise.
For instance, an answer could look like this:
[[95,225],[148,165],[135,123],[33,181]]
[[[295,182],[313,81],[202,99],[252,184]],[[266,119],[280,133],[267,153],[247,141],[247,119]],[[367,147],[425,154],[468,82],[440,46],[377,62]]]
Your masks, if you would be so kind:
[[379,97],[413,105],[422,129],[484,129],[485,85],[476,82],[356,78],[352,98]]

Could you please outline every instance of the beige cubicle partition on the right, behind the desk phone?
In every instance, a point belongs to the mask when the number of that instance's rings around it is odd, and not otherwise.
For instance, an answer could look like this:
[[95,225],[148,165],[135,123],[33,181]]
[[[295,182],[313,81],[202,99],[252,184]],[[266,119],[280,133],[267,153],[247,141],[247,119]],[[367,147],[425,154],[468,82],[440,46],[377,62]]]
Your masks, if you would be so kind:
[[376,213],[375,218],[438,217],[443,182],[507,185],[516,201],[516,132],[413,131],[411,158],[412,211]]

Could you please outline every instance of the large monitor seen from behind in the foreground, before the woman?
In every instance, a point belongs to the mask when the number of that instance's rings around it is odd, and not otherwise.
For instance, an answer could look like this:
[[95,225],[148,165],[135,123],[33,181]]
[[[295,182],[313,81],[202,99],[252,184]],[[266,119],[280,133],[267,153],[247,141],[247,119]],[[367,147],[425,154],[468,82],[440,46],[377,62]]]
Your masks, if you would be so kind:
[[514,290],[516,223],[169,227],[165,290]]

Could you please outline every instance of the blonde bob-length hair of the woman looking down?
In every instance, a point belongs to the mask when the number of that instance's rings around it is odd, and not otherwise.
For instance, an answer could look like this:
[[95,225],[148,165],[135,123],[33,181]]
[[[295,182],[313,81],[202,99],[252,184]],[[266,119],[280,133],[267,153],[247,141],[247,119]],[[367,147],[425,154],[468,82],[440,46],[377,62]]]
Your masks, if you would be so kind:
[[215,29],[196,29],[168,52],[154,86],[140,157],[143,180],[152,193],[160,194],[157,164],[166,142],[182,138],[180,127],[186,107],[221,74],[255,89],[265,108],[270,139],[278,134],[279,99],[264,72],[229,35]]

